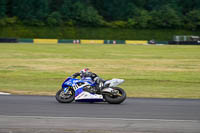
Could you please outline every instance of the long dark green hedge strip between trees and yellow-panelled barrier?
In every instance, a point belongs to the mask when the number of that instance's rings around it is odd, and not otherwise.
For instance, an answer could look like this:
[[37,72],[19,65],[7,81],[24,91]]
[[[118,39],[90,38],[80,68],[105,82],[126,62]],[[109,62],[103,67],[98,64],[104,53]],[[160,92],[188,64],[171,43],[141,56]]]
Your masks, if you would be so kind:
[[174,35],[197,35],[200,31],[169,29],[133,29],[109,27],[36,27],[36,26],[3,26],[0,37],[16,38],[60,38],[60,39],[102,39],[102,40],[172,40]]

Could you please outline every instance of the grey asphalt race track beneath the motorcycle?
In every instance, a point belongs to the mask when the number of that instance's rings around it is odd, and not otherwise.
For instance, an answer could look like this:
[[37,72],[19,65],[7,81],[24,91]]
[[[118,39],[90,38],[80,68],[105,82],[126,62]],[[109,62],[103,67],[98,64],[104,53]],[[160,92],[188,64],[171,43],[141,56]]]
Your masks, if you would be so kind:
[[27,132],[200,133],[200,100],[59,104],[51,96],[0,95],[0,133]]

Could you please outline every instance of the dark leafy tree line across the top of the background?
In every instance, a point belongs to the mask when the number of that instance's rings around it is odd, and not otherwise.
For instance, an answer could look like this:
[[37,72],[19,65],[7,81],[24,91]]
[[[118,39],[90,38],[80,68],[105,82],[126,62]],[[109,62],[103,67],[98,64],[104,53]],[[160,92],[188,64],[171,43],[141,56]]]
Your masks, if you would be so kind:
[[200,0],[0,0],[0,26],[200,29]]

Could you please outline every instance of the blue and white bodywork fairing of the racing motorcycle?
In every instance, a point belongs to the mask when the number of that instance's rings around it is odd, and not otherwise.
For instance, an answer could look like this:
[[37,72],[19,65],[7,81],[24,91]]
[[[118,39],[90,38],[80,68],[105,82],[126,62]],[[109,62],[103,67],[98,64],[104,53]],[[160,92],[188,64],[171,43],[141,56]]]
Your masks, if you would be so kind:
[[84,91],[83,88],[86,86],[96,86],[96,83],[92,79],[75,79],[72,77],[67,78],[63,84],[64,92],[67,93],[69,87],[72,87],[75,91],[75,101],[80,102],[103,102],[103,96],[99,94],[92,94],[88,91]]

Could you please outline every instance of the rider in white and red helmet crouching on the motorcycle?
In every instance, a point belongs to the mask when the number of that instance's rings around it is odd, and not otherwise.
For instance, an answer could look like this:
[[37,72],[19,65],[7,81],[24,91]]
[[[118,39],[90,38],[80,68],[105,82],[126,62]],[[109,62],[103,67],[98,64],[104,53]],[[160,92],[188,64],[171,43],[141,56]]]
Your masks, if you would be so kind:
[[72,78],[76,78],[78,76],[81,77],[81,80],[92,80],[92,81],[94,81],[97,84],[96,85],[97,91],[101,92],[105,80],[100,78],[97,74],[92,73],[89,68],[85,68],[85,69],[82,69],[80,72],[74,73],[72,75]]

